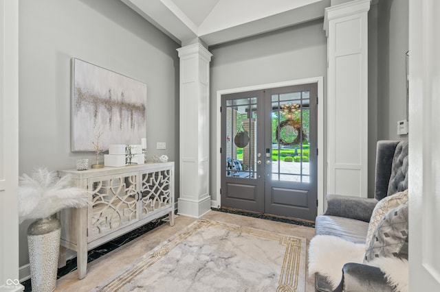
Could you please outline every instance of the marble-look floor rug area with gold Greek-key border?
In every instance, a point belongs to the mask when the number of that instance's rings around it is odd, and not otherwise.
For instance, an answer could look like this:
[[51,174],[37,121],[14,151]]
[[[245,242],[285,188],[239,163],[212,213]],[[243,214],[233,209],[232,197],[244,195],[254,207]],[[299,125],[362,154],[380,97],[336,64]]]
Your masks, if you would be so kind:
[[199,219],[93,291],[305,291],[306,240]]

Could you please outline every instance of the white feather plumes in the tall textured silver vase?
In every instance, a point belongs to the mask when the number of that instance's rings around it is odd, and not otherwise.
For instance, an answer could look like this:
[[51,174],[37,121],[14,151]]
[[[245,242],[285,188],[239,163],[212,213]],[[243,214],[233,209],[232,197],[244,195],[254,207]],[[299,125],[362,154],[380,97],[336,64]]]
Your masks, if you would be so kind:
[[32,177],[19,178],[19,217],[25,219],[49,217],[63,208],[82,208],[89,204],[89,191],[72,187],[68,175],[58,178],[54,171],[36,168]]

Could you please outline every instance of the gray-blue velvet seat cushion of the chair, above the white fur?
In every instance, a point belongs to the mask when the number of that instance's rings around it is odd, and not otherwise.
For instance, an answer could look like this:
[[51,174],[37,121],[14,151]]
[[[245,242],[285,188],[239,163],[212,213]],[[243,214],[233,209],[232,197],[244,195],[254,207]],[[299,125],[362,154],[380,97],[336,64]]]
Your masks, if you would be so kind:
[[315,234],[333,235],[353,243],[365,243],[369,223],[338,216],[320,215],[316,217]]

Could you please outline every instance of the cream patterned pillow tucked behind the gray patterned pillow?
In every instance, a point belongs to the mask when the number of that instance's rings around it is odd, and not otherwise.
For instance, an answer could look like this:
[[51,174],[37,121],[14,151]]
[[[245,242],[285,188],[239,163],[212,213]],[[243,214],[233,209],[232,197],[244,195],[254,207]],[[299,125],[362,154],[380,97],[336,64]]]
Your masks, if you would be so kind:
[[365,247],[368,248],[373,238],[373,232],[379,225],[379,222],[384,218],[389,210],[394,209],[401,204],[408,202],[408,190],[395,193],[394,195],[389,195],[381,199],[373,209],[371,214],[371,219],[369,223],[369,231],[366,233]]

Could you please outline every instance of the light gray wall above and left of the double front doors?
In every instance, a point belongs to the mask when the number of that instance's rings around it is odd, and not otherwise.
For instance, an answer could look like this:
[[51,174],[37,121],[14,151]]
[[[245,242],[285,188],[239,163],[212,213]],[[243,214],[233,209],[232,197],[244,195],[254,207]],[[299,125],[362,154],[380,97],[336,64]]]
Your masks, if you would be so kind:
[[[323,20],[311,21],[270,34],[263,34],[210,47],[210,192],[217,171],[217,90],[324,76],[327,86],[327,38]],[[326,95],[325,95],[326,97]],[[325,102],[325,97],[320,99]]]

